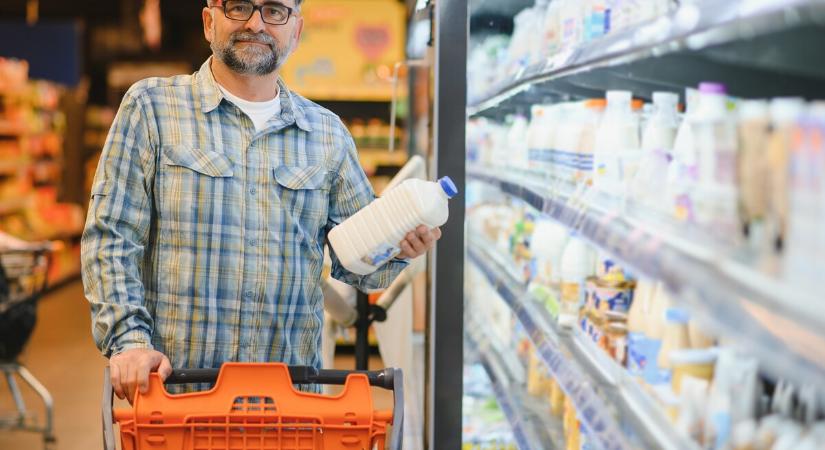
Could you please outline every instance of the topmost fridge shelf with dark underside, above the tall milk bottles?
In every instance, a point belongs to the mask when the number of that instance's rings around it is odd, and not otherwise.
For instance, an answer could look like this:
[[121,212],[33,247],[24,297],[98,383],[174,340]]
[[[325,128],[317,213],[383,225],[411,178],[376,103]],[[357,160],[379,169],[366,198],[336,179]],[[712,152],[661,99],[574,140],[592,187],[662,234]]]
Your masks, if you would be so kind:
[[[672,15],[560,52],[470,101],[473,115],[499,116],[570,97],[627,89],[650,98],[701,81],[740,97],[825,96],[825,66],[811,42],[825,38],[825,1],[700,0]],[[513,81],[515,80],[515,81]]]

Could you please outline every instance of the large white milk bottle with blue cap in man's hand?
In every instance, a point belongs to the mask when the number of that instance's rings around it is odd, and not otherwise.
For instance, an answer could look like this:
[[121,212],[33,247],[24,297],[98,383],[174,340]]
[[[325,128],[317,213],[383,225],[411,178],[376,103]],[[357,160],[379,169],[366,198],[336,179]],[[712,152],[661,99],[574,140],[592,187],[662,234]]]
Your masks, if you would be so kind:
[[447,200],[456,194],[449,177],[438,182],[409,179],[334,227],[329,243],[347,270],[370,274],[394,258],[404,236],[419,225],[444,225]]

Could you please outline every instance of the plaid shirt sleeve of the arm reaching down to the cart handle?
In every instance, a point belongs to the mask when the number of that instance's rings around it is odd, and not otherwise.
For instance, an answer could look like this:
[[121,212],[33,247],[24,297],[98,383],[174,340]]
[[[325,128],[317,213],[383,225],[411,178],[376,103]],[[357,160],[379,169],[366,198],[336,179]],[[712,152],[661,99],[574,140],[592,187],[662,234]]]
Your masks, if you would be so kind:
[[126,94],[109,131],[81,239],[92,334],[106,357],[152,347],[153,320],[142,274],[155,157],[151,121],[140,94],[135,89]]

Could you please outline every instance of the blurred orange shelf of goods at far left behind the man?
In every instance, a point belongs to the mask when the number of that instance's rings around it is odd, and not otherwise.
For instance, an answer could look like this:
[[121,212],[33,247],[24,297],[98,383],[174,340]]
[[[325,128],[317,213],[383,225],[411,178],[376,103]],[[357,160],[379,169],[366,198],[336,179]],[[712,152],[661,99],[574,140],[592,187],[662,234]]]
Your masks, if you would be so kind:
[[58,201],[65,118],[61,88],[28,78],[25,61],[0,58],[0,230],[16,237],[63,241],[50,283],[80,272],[83,211]]

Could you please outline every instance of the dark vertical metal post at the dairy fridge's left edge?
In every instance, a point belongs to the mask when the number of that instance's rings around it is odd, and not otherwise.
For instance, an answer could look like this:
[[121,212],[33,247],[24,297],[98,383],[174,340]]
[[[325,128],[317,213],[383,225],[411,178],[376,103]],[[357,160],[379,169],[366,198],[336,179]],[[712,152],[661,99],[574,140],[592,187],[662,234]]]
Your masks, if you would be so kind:
[[464,196],[467,2],[435,2],[434,171],[461,190],[430,266],[426,447],[461,448],[464,335]]

